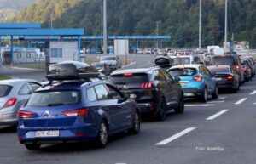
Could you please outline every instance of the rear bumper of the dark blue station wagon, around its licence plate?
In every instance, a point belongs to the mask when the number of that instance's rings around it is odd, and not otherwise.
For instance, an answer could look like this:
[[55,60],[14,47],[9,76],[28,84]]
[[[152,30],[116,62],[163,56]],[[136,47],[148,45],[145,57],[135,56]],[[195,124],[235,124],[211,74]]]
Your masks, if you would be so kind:
[[[60,132],[57,137],[37,137],[38,131],[52,131],[58,130]],[[98,132],[98,127],[86,125],[82,127],[33,127],[25,128],[18,127],[18,138],[21,144],[55,144],[55,143],[69,143],[95,140]]]

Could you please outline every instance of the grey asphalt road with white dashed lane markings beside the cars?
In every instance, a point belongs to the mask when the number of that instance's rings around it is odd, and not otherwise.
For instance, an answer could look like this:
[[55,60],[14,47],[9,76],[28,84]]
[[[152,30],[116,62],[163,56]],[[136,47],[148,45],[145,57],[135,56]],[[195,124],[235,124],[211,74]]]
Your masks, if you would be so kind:
[[[137,58],[137,65],[147,66],[148,57]],[[188,100],[182,115],[171,112],[165,122],[144,121],[141,133],[119,134],[105,149],[49,144],[32,152],[19,144],[14,127],[0,127],[0,163],[254,164],[255,90],[256,78],[238,93],[221,93],[207,104]]]

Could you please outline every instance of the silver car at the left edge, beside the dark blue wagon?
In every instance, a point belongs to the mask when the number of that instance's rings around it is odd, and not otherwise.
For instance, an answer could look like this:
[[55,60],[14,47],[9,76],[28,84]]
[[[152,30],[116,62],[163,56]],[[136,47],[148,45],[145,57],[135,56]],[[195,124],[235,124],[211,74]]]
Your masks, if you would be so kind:
[[17,112],[41,84],[35,80],[15,79],[0,81],[0,125],[15,125]]

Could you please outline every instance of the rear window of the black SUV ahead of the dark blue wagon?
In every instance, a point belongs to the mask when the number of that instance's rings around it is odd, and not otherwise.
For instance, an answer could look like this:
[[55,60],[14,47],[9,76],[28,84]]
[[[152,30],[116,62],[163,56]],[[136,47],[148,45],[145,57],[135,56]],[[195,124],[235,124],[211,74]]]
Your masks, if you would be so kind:
[[132,76],[114,75],[110,76],[108,82],[116,85],[126,85],[148,82],[148,74],[133,74]]

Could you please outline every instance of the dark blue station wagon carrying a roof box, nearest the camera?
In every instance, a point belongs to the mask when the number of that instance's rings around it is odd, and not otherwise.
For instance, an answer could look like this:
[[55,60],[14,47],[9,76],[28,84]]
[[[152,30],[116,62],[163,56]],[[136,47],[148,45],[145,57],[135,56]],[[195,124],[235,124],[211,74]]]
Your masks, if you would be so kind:
[[[77,69],[74,64],[60,65],[52,70]],[[41,144],[81,141],[96,141],[105,147],[114,133],[139,133],[140,110],[134,100],[108,82],[90,78],[94,74],[57,72],[19,111],[18,137],[28,150],[38,150]],[[51,82],[54,79],[62,82]]]

